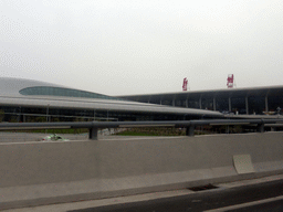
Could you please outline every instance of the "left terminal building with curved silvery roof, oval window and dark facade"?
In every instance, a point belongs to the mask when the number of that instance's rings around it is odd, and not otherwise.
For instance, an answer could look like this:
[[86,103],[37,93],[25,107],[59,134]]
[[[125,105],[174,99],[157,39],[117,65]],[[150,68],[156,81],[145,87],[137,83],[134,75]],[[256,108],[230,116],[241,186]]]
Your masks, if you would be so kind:
[[0,121],[184,120],[219,112],[138,103],[61,85],[0,78]]

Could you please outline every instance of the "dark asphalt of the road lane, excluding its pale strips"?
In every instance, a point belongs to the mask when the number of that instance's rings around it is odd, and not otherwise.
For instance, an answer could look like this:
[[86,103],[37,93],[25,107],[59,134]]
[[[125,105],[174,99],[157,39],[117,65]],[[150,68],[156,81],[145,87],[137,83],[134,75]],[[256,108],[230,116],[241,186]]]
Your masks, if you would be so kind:
[[[244,186],[232,189],[213,189],[209,192],[197,192],[193,195],[165,198],[144,202],[116,204],[108,206],[70,210],[69,212],[188,212],[208,211],[245,202],[258,202],[256,205],[228,211],[283,211],[283,200],[260,203],[260,200],[283,195],[283,180]],[[216,210],[217,211],[217,210]]]

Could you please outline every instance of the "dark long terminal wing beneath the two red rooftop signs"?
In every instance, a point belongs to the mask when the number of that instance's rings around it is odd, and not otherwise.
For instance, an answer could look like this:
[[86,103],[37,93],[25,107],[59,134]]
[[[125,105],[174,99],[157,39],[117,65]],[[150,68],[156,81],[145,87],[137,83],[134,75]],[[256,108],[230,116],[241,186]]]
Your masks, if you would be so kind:
[[281,112],[281,108],[283,108],[283,86],[189,91],[119,97],[140,103],[239,115],[271,115]]

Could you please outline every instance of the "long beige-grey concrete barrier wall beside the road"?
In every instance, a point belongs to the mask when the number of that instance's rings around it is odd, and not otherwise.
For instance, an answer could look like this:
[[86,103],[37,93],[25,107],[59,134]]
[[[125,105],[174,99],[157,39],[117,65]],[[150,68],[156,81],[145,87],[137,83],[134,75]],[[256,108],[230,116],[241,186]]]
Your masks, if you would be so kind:
[[[254,172],[237,172],[239,155],[251,157]],[[0,209],[282,172],[283,132],[0,144]]]

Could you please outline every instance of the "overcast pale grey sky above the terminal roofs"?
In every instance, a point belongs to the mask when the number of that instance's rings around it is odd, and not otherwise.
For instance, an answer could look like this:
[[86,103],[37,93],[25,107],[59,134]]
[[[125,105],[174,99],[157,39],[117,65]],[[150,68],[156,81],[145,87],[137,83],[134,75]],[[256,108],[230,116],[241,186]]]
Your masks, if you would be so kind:
[[282,0],[0,0],[0,76],[107,95],[282,85]]

